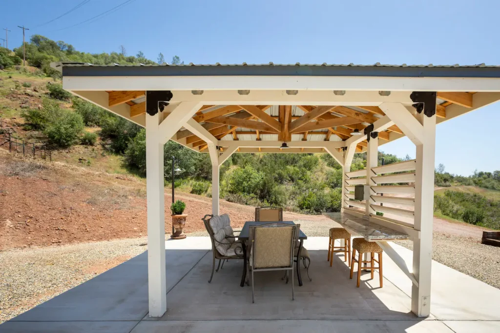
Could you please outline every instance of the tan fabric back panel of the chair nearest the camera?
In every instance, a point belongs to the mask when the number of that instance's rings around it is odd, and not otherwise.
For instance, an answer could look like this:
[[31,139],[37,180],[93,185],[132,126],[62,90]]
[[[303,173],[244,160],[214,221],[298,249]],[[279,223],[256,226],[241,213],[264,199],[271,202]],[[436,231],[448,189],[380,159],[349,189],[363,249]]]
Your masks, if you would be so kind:
[[254,268],[290,267],[292,232],[292,227],[255,228]]

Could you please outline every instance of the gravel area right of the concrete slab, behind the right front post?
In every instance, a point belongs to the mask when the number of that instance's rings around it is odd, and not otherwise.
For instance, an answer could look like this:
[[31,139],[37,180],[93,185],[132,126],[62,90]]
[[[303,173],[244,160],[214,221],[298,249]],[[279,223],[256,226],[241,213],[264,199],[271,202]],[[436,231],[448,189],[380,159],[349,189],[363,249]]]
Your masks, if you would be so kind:
[[[410,241],[394,242],[413,250]],[[500,248],[481,244],[472,237],[434,232],[432,259],[500,289]]]

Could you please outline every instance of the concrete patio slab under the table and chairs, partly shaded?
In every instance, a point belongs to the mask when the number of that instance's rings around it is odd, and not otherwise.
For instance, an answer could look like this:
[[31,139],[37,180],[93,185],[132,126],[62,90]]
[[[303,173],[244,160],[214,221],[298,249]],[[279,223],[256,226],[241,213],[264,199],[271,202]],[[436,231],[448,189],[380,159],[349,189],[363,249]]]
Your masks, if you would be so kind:
[[[362,273],[361,286],[349,279],[343,256],[326,261],[328,238],[311,237],[309,282],[291,285],[277,272],[255,274],[239,287],[242,265],[230,261],[207,280],[210,241],[189,237],[166,241],[167,312],[147,317],[147,253],[75,287],[0,325],[0,333],[151,332],[500,332],[500,290],[438,263],[432,263],[431,317],[410,312],[411,282],[384,256],[383,288],[378,275]],[[411,251],[394,245],[409,260]],[[457,292],[458,291],[458,292]],[[486,298],[487,297],[487,298]],[[460,317],[461,320],[456,320]]]

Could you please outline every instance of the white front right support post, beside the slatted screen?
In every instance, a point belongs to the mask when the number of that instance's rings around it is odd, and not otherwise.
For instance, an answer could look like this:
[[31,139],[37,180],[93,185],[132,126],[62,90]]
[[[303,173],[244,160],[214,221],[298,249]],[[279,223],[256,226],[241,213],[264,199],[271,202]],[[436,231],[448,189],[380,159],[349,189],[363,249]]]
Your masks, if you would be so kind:
[[436,116],[418,116],[423,127],[422,144],[416,146],[415,222],[420,238],[413,241],[413,275],[418,282],[411,289],[411,311],[418,317],[430,314],[430,269],[434,204],[434,153]]

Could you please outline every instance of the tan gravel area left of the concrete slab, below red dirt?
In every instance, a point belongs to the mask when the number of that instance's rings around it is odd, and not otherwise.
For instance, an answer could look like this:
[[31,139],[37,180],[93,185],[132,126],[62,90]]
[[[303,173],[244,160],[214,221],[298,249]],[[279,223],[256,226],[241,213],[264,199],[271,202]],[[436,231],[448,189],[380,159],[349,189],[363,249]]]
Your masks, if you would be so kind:
[[142,253],[145,238],[0,252],[0,324]]

